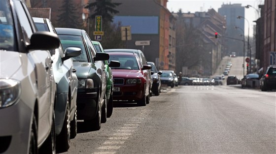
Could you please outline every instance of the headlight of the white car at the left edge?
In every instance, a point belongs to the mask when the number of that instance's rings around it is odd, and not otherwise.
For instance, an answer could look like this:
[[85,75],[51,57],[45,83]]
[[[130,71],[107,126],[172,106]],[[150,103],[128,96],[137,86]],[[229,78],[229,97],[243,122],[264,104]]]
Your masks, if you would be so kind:
[[14,104],[21,94],[21,83],[13,79],[0,79],[0,108]]

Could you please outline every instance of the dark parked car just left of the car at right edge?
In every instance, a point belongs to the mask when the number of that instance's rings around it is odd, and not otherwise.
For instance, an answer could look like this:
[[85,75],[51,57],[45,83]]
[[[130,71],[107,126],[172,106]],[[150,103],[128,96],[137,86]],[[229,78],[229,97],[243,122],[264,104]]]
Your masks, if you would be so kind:
[[259,80],[260,80],[259,74],[255,74],[255,73],[247,74],[242,78],[242,81],[241,81],[242,88],[244,87],[256,88],[260,83]]

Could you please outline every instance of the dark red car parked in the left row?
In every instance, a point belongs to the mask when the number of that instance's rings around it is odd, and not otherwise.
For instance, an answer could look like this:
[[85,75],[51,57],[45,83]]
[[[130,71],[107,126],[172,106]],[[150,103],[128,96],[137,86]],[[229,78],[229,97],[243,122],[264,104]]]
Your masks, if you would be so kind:
[[140,106],[148,104],[150,95],[143,70],[150,69],[151,66],[142,65],[135,53],[112,52],[108,54],[109,62],[120,62],[120,67],[111,67],[114,80],[113,100],[134,100]]

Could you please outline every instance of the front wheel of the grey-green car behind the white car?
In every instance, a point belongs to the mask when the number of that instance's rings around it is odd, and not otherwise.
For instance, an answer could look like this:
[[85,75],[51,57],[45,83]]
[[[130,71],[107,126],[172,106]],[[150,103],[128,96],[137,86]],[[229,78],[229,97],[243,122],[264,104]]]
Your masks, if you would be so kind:
[[70,107],[69,97],[67,98],[67,107],[65,118],[60,134],[57,136],[58,153],[66,152],[70,147]]

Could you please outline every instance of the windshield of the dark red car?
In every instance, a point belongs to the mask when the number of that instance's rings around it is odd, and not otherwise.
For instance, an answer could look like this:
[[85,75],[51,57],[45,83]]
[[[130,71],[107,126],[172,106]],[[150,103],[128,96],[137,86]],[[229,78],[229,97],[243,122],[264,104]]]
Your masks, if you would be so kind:
[[110,61],[120,62],[120,67],[111,67],[112,69],[139,69],[139,65],[135,56],[125,55],[109,55]]

